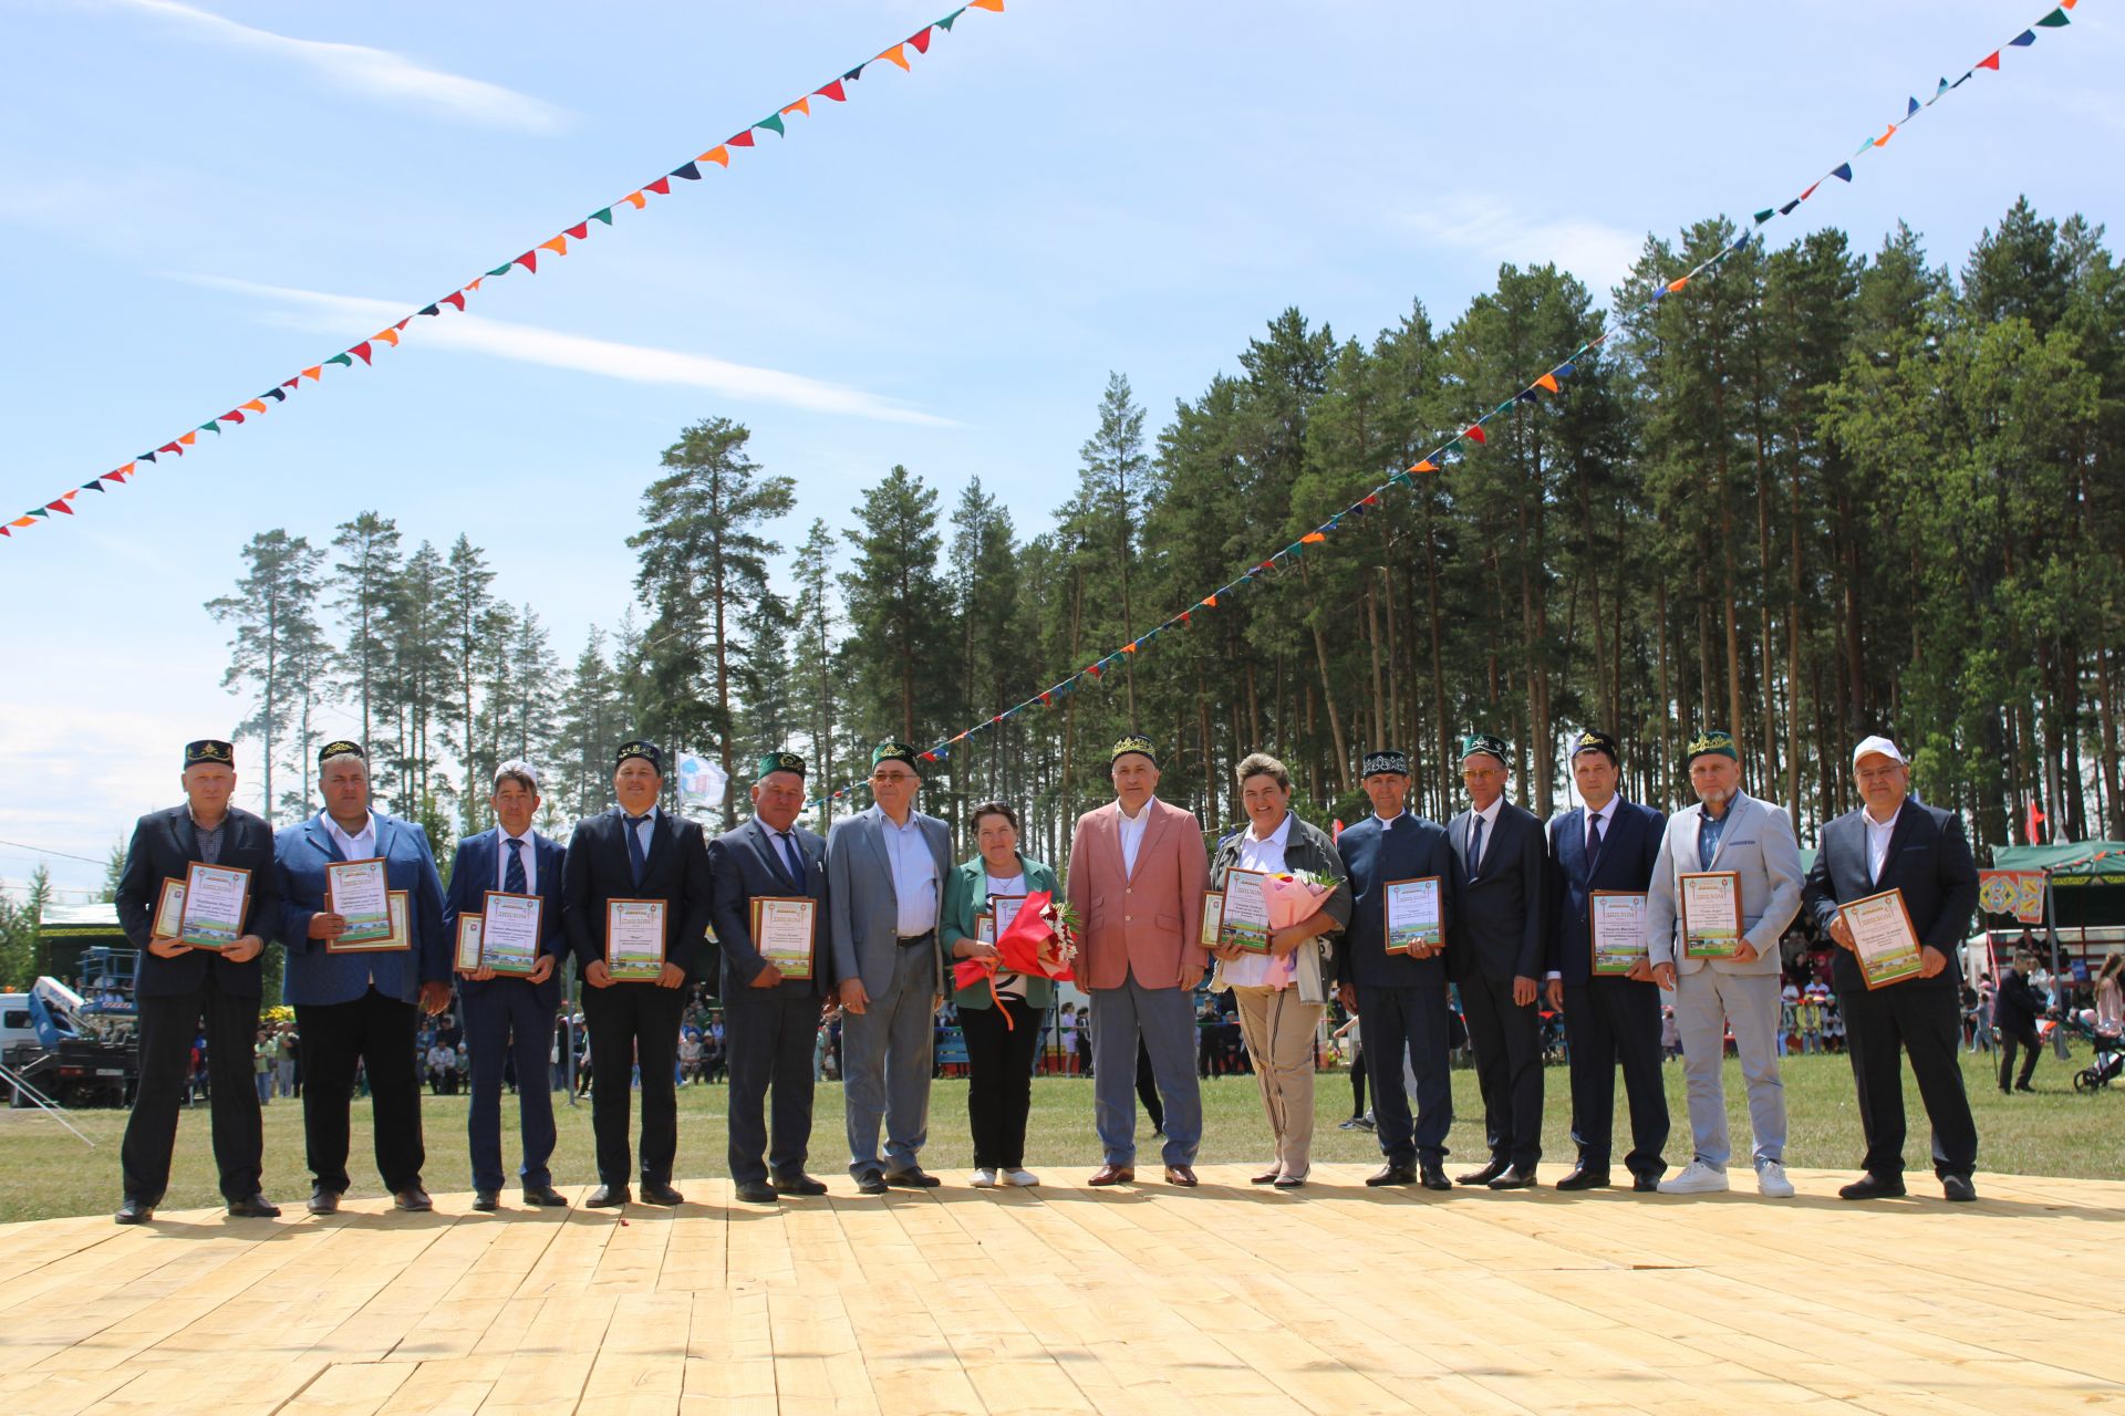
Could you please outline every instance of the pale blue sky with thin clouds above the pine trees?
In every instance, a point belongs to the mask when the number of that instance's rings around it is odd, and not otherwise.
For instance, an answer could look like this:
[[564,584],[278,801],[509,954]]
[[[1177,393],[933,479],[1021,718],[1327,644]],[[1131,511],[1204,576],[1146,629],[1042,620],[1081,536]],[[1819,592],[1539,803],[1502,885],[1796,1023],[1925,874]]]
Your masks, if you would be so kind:
[[[939,17],[941,0],[0,0],[0,510],[42,503],[457,289]],[[0,541],[0,841],[87,885],[225,732],[200,609],[268,526],[459,531],[563,656],[629,601],[638,493],[706,416],[799,480],[786,539],[905,463],[1022,531],[1109,369],[1164,420],[1298,306],[1439,323],[1500,261],[1596,291],[1647,231],[1747,214],[2042,13],[1009,0],[850,102],[374,369]],[[1936,261],[2027,193],[2116,225],[2119,21],[2012,49],[1796,219]],[[2112,176],[2102,176],[2112,172]],[[1560,350],[1562,352],[1562,350]],[[255,777],[255,762],[246,769]],[[0,845],[0,879],[36,851]]]

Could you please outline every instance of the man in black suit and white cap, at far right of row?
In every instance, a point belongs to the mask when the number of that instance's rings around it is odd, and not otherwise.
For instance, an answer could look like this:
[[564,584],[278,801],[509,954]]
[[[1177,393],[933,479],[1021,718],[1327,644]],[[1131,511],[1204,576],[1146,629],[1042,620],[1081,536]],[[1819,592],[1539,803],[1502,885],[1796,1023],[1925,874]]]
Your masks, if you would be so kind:
[[1978,868],[1953,811],[1910,798],[1910,764],[1885,737],[1853,752],[1866,802],[1823,826],[1808,870],[1815,923],[1838,945],[1830,977],[1859,1087],[1866,1174],[1842,1199],[1904,1193],[1904,1070],[1910,1053],[1934,1125],[1934,1174],[1949,1199],[1976,1199],[1978,1129],[1964,1072],[1959,981],[1964,930],[1978,904]]

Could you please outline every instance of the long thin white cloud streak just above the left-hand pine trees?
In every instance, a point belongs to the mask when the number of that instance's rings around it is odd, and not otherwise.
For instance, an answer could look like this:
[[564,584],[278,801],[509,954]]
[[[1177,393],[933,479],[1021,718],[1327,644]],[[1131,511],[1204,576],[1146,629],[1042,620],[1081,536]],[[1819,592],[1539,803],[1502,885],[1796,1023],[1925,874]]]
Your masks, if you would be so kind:
[[[393,325],[414,308],[408,301],[368,299],[361,295],[327,295],[302,291],[285,284],[257,284],[253,280],[230,280],[223,276],[187,276],[198,284],[210,284],[240,295],[270,299],[280,310],[270,316],[295,329],[319,329],[344,335],[348,329],[378,329]],[[644,344],[616,344],[586,335],[542,329],[538,325],[512,325],[478,314],[455,314],[421,318],[406,327],[408,338],[419,346],[440,346],[514,359],[518,363],[540,363],[552,369],[576,369],[599,374],[633,384],[680,384],[708,388],[737,399],[761,403],[782,403],[820,414],[842,414],[852,418],[880,418],[884,422],[918,422],[926,427],[956,427],[950,418],[939,418],[892,399],[829,384],[803,374],[763,369],[748,363],[731,363],[708,355],[688,355]]]

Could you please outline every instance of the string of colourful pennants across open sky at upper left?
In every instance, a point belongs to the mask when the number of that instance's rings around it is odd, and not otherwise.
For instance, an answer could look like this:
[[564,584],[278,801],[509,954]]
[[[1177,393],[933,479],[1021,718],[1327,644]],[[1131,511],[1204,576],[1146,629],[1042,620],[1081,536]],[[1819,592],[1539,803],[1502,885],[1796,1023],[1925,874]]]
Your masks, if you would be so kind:
[[125,486],[130,478],[138,478],[142,471],[147,471],[147,467],[159,465],[159,459],[176,459],[176,456],[185,456],[187,452],[196,452],[200,448],[200,433],[215,433],[217,437],[221,437],[223,433],[227,433],[227,431],[232,431],[236,427],[242,427],[244,422],[249,422],[253,418],[264,418],[270,410],[287,403],[287,397],[291,393],[300,393],[306,384],[323,382],[327,369],[334,369],[334,367],[353,369],[357,359],[361,361],[363,367],[370,367],[374,363],[376,355],[380,355],[385,348],[397,348],[402,335],[414,333],[419,329],[419,325],[414,325],[414,321],[419,321],[423,316],[425,318],[438,318],[438,316],[442,316],[444,310],[457,310],[459,314],[463,314],[465,312],[465,301],[472,299],[472,295],[480,293],[482,284],[487,284],[489,280],[499,280],[499,278],[508,276],[510,272],[518,270],[518,267],[525,274],[536,276],[538,274],[538,263],[540,263],[542,257],[548,263],[552,263],[555,259],[565,257],[574,246],[580,246],[582,242],[591,240],[591,231],[595,229],[593,223],[597,223],[597,227],[610,229],[612,223],[614,223],[614,214],[616,212],[629,210],[629,208],[635,210],[635,212],[648,210],[650,197],[667,197],[667,195],[672,195],[672,191],[674,191],[672,183],[674,180],[680,180],[680,183],[697,183],[697,180],[701,180],[701,174],[703,174],[706,166],[716,166],[716,168],[729,170],[733,151],[742,151],[742,149],[754,146],[756,144],[756,134],[776,134],[778,138],[786,138],[788,136],[788,119],[790,117],[814,117],[814,100],[824,100],[820,104],[820,108],[824,108],[827,104],[846,104],[848,96],[850,96],[848,93],[848,85],[852,85],[858,79],[863,79],[863,70],[871,68],[873,64],[892,64],[895,68],[899,68],[903,72],[914,72],[912,55],[926,55],[931,42],[939,34],[950,34],[952,25],[958,23],[958,19],[967,11],[1003,13],[1003,0],[967,0],[967,4],[960,4],[958,8],[954,8],[950,15],[941,17],[941,19],[933,19],[931,23],[922,25],[920,30],[916,30],[914,34],[910,34],[907,38],[903,38],[899,45],[890,45],[890,47],[882,49],[880,53],[871,55],[863,64],[856,64],[854,68],[844,70],[839,76],[829,79],[827,83],[822,83],[820,87],[812,89],[810,93],[803,93],[801,98],[797,98],[797,100],[793,100],[788,104],[782,104],[780,108],[776,108],[774,113],[769,113],[759,123],[742,127],[740,132],[731,134],[729,138],[725,138],[716,146],[708,149],[706,153],[697,153],[695,157],[688,157],[680,166],[676,166],[669,172],[661,174],[657,180],[644,183],[642,187],[635,187],[625,197],[618,197],[616,202],[599,206],[595,212],[591,212],[589,217],[584,217],[576,225],[565,227],[565,229],[548,236],[546,240],[538,242],[536,246],[531,246],[529,251],[525,251],[518,257],[512,257],[508,261],[502,261],[499,265],[489,267],[484,274],[474,276],[472,280],[468,280],[465,284],[457,287],[448,295],[421,306],[419,310],[414,310],[406,318],[397,321],[395,325],[387,325],[385,329],[378,329],[368,340],[361,340],[359,344],[351,344],[348,348],[342,348],[340,352],[332,355],[329,359],[323,359],[323,361],[319,361],[319,363],[314,363],[310,367],[298,369],[293,378],[285,378],[278,384],[274,384],[272,388],[268,388],[266,393],[259,393],[257,397],[251,397],[251,399],[244,399],[242,403],[236,403],[225,414],[208,418],[206,422],[200,422],[198,427],[191,427],[191,429],[178,433],[176,437],[172,437],[170,442],[162,444],[159,448],[151,448],[149,452],[140,452],[132,461],[121,463],[121,465],[113,467],[110,471],[106,471],[106,473],[102,473],[98,478],[89,478],[87,482],[83,482],[81,486],[76,486],[76,488],[72,488],[68,493],[60,493],[57,497],[53,497],[47,503],[34,505],[28,512],[23,512],[21,516],[17,516],[13,520],[6,520],[6,522],[0,522],[0,537],[13,537],[17,531],[23,531],[28,526],[36,526],[38,522],[47,522],[53,516],[74,516],[79,512],[79,505],[85,505],[85,503],[79,501],[81,493],[108,493],[113,484],[115,486]]

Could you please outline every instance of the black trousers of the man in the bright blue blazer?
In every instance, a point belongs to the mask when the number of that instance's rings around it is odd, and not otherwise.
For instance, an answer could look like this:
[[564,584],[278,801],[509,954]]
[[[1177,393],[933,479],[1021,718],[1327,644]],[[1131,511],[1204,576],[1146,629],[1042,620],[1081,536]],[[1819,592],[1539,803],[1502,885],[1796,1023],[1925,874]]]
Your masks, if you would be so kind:
[[[374,987],[353,1002],[295,1004],[302,1036],[302,1140],[319,1189],[346,1193],[348,1100],[355,1064],[370,1074],[376,1172],[397,1193],[421,1185],[421,1064],[414,1057],[419,1008]],[[215,1085],[219,1091],[219,1083]]]

